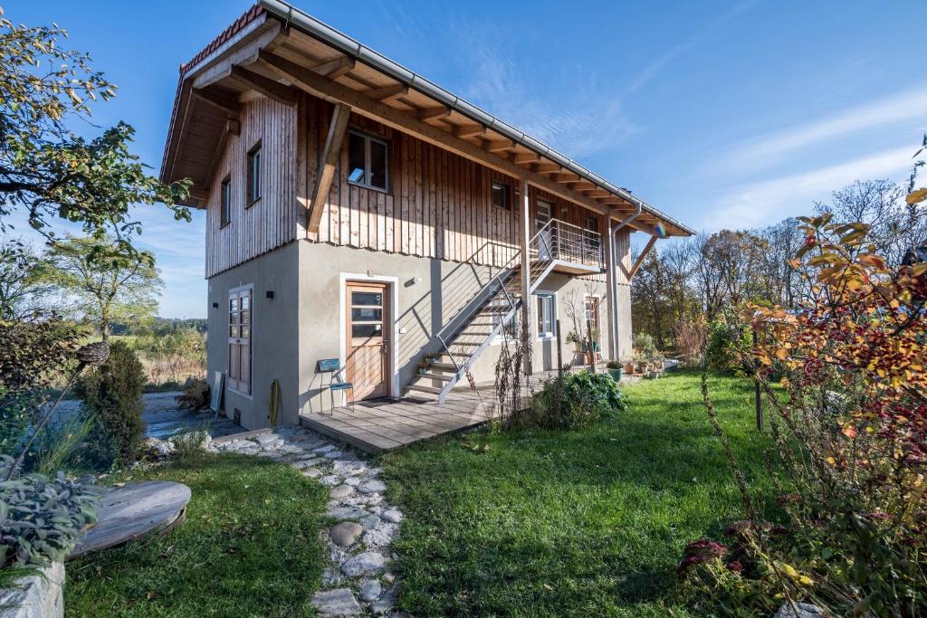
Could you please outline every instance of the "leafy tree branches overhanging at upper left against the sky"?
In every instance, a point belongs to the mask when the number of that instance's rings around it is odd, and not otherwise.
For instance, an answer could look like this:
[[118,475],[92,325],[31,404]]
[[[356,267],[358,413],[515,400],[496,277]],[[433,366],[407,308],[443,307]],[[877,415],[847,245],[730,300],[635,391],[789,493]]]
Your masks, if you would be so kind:
[[189,221],[180,205],[190,182],[165,185],[148,175],[129,150],[131,126],[120,122],[92,139],[68,126],[75,119],[90,124],[89,103],[116,92],[90,57],[62,46],[67,32],[57,26],[14,25],[2,16],[0,10],[0,231],[19,210],[53,239],[50,220],[57,217],[97,239],[114,234],[110,253],[133,257],[131,236],[141,227],[129,219],[131,205],[162,202]]

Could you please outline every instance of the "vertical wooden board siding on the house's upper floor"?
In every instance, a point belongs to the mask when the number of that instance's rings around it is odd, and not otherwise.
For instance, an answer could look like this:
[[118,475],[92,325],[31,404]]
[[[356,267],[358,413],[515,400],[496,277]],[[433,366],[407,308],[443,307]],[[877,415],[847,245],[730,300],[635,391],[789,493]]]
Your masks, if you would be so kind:
[[[298,195],[311,194],[333,108],[309,95],[300,96],[298,107],[267,99],[244,107],[241,134],[229,137],[210,187],[207,277],[306,237],[307,211],[299,204]],[[301,113],[305,116],[298,119]],[[348,148],[343,145],[319,232],[309,233],[309,240],[496,267],[513,258],[520,242],[517,179],[357,115],[351,116],[349,126],[379,135],[389,143],[388,190],[349,183]],[[298,135],[297,127],[305,128],[306,134]],[[248,150],[259,140],[261,198],[245,208]],[[232,178],[231,218],[220,229],[219,187],[226,175]],[[509,185],[511,208],[492,206],[492,182]],[[531,193],[532,218],[538,198],[554,204],[554,218],[575,225],[584,226],[591,213],[543,191],[532,188]],[[602,233],[605,221],[595,216]],[[616,248],[617,255],[629,262],[627,241],[627,233],[619,234]],[[618,276],[618,281],[623,281],[620,269]],[[588,278],[604,281],[604,275]]]

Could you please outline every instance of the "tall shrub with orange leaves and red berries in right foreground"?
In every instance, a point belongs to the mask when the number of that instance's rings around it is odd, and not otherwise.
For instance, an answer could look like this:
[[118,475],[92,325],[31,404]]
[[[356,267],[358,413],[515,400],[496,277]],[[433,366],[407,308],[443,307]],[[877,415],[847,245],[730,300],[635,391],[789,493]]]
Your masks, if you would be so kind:
[[[927,263],[890,268],[866,225],[831,219],[801,220],[809,302],[744,315],[765,334],[742,359],[771,409],[787,534],[759,519],[741,483],[737,557],[725,565],[728,548],[705,546],[687,561],[743,615],[810,600],[836,615],[916,616],[927,607]],[[771,388],[783,369],[784,403]],[[705,403],[711,414],[707,388]]]

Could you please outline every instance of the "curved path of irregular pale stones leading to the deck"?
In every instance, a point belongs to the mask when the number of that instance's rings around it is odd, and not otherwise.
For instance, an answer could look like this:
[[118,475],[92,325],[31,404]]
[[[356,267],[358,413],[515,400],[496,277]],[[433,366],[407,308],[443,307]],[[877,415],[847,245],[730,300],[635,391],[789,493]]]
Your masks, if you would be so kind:
[[289,463],[300,473],[329,487],[326,515],[335,523],[324,531],[330,566],[322,590],[312,598],[320,616],[389,615],[396,612],[399,590],[389,564],[402,513],[387,503],[387,486],[365,456],[301,427],[213,441],[213,451],[267,457]]

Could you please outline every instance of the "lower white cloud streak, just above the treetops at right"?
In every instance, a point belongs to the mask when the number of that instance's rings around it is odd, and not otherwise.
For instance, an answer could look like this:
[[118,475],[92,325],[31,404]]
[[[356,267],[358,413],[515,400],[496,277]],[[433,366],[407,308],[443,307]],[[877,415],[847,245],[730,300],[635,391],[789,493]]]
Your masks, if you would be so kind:
[[911,166],[911,146],[857,158],[801,174],[733,187],[706,215],[708,231],[768,225],[786,217],[808,214],[817,200],[857,180],[904,178]]

